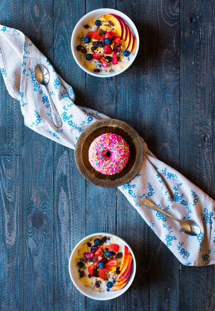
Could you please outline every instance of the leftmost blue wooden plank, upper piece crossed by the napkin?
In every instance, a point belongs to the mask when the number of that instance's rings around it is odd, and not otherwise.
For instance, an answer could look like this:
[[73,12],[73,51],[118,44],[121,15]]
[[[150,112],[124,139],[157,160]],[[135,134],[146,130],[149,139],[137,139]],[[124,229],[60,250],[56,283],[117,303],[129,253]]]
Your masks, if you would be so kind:
[[[22,28],[22,0],[0,1],[0,24]],[[12,98],[0,74],[0,155],[22,154],[23,120],[19,102]]]

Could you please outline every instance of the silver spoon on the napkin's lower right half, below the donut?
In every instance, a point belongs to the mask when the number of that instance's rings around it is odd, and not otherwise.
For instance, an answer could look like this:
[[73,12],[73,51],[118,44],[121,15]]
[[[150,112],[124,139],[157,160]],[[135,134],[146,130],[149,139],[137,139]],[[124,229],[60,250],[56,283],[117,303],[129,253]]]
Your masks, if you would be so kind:
[[179,220],[179,219],[169,215],[166,211],[161,210],[158,206],[154,205],[154,203],[152,203],[148,199],[142,199],[141,202],[144,206],[150,208],[151,210],[158,211],[158,212],[176,220],[177,222],[179,222],[179,224],[181,225],[181,229],[184,233],[187,233],[189,235],[199,235],[201,233],[201,229],[200,229],[199,225],[197,225],[197,223],[194,222],[193,220],[189,220],[189,219]]

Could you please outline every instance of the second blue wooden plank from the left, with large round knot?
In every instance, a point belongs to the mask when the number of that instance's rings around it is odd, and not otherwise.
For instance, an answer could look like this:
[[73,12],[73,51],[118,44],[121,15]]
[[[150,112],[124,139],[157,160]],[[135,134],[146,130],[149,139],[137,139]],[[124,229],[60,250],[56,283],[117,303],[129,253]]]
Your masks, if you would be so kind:
[[[53,1],[23,1],[24,32],[53,60]],[[24,310],[54,309],[53,142],[24,128]]]

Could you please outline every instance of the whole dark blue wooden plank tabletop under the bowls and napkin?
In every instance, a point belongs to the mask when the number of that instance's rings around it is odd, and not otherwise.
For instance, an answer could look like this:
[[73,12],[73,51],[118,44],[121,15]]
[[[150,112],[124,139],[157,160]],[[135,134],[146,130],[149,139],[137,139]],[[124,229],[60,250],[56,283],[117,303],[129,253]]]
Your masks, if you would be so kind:
[[[72,58],[86,12],[123,11],[138,27],[135,64],[95,78]],[[128,122],[161,160],[215,198],[215,1],[1,0],[0,23],[23,31],[74,88],[75,102]],[[68,261],[86,234],[117,233],[137,275],[116,300],[86,299]],[[0,310],[212,311],[215,267],[186,267],[116,189],[79,174],[74,152],[23,126],[0,77]]]

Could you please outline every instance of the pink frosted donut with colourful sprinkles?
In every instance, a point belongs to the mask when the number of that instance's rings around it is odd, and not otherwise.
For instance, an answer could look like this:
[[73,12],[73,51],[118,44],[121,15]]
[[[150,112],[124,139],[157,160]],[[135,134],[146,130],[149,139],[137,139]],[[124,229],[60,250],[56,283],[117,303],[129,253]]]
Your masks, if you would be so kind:
[[89,162],[100,173],[119,173],[129,160],[129,145],[121,136],[113,133],[102,134],[89,147]]

